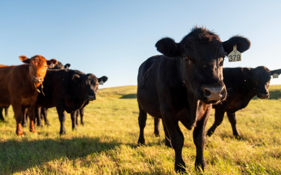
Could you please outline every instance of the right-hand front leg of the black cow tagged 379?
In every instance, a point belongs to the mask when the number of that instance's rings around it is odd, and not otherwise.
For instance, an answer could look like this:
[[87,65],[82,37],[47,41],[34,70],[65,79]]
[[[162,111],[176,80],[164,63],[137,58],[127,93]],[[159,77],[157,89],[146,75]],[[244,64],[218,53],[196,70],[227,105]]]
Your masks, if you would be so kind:
[[[208,110],[208,109],[207,109]],[[196,159],[195,159],[195,168],[198,169],[199,167],[204,170],[206,167],[206,161],[204,158],[204,145],[205,145],[205,126],[207,123],[207,120],[210,115],[210,110],[208,110],[204,116],[196,122],[196,126],[194,127],[193,130],[193,142],[196,147]]]

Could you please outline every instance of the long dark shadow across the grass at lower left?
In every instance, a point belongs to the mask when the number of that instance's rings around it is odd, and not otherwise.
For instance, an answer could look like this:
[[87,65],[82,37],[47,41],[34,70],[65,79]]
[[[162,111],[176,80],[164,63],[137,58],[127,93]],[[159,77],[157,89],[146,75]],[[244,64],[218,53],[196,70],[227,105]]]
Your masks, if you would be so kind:
[[[75,160],[118,147],[117,142],[100,142],[99,138],[43,139],[0,142],[0,172],[11,174],[66,157]],[[1,174],[0,173],[0,174]]]

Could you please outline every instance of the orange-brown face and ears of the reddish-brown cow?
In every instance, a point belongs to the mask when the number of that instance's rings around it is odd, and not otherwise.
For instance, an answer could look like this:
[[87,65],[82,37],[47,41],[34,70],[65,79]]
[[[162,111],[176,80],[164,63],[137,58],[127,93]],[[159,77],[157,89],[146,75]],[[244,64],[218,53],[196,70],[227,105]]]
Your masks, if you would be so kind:
[[56,59],[47,60],[41,55],[36,55],[32,58],[27,58],[26,56],[19,56],[19,59],[23,63],[29,64],[29,74],[31,81],[36,87],[44,81],[44,77],[47,72],[47,67],[53,67],[58,61]]

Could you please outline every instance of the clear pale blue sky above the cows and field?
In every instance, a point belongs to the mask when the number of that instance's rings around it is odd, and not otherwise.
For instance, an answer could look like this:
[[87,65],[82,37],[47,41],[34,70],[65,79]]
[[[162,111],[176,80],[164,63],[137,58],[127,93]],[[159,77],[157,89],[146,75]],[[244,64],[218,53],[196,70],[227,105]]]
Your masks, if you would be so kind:
[[[281,1],[0,1],[0,64],[20,55],[56,58],[106,75],[100,88],[137,85],[140,64],[160,54],[158,39],[179,42],[195,24],[251,40],[242,61],[224,67],[280,69]],[[271,79],[271,84],[281,84]]]

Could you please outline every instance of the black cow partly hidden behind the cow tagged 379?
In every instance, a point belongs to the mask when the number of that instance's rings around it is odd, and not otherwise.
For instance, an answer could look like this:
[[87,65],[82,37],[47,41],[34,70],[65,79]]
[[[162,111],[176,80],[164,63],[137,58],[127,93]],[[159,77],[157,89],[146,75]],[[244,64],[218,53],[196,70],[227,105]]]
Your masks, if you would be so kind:
[[236,129],[237,110],[245,108],[250,100],[257,95],[261,99],[269,98],[270,76],[274,73],[278,75],[281,69],[270,71],[264,66],[257,68],[224,68],[223,78],[227,89],[227,98],[222,103],[213,105],[215,112],[215,122],[208,130],[207,135],[212,135],[217,126],[223,121],[226,112],[231,123],[233,135],[241,139]]

